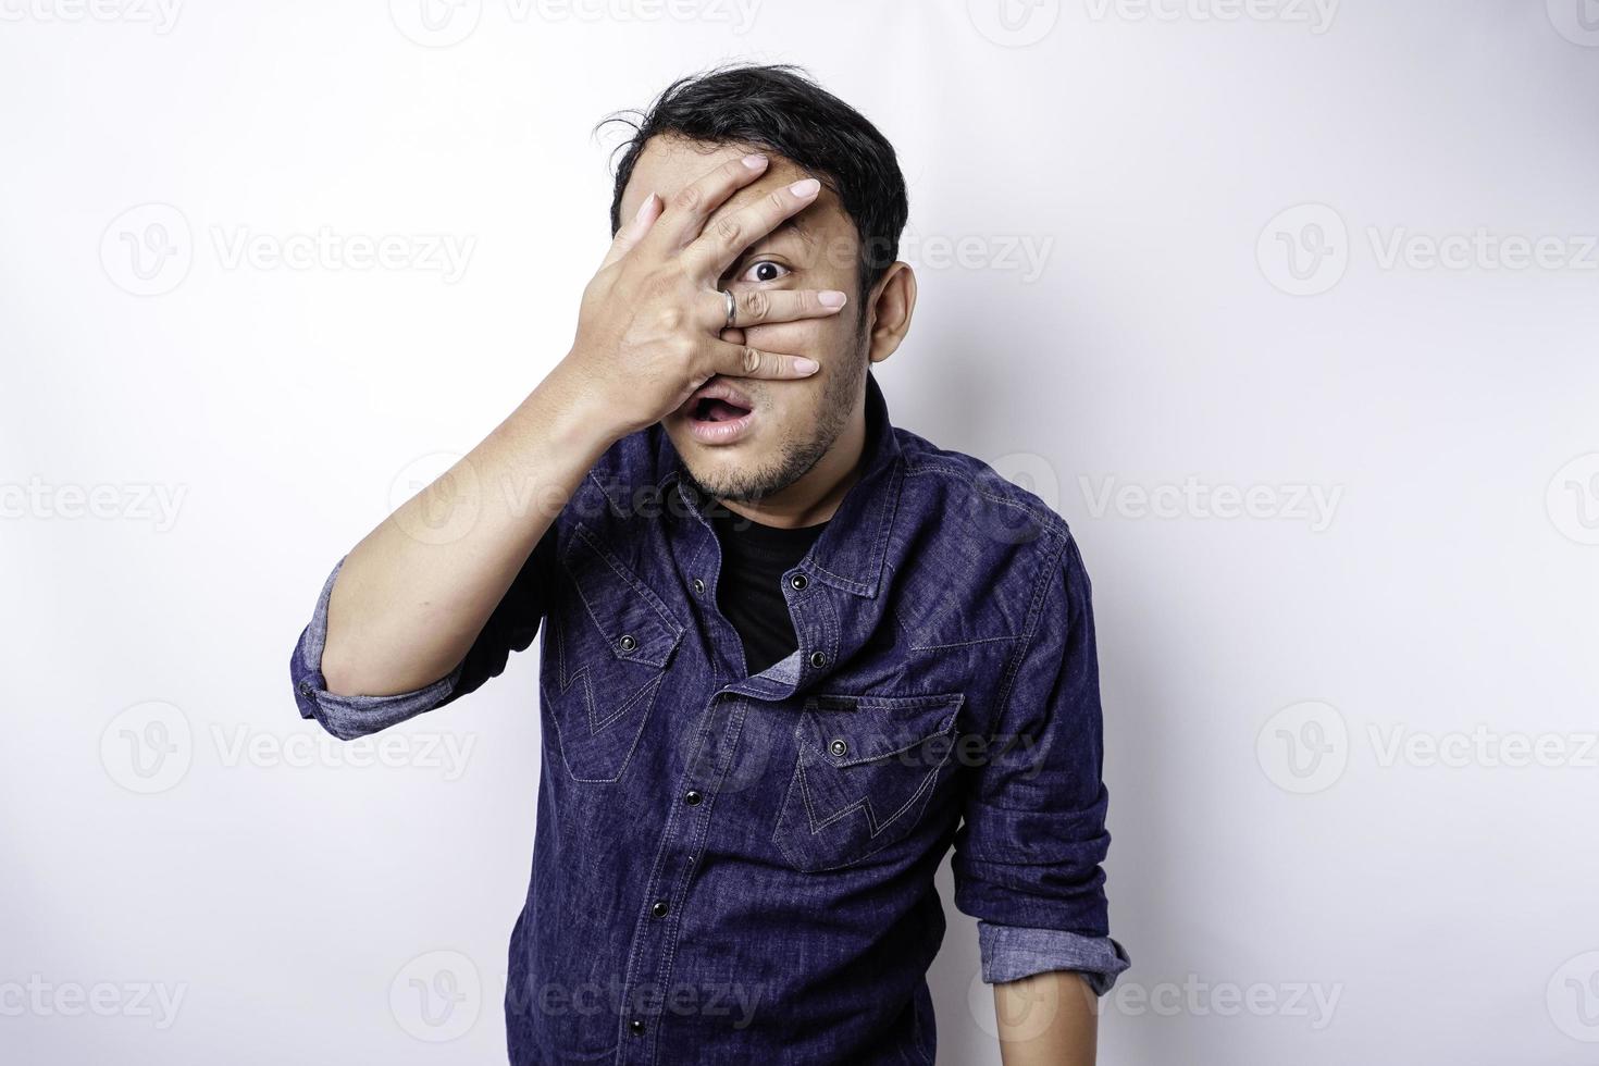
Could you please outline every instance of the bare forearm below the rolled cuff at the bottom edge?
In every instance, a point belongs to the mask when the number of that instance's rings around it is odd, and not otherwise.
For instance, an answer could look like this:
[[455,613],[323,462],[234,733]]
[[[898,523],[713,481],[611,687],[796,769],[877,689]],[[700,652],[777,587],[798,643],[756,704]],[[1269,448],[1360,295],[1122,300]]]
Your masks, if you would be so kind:
[[1099,997],[1068,970],[995,984],[1004,1066],[1094,1066]]

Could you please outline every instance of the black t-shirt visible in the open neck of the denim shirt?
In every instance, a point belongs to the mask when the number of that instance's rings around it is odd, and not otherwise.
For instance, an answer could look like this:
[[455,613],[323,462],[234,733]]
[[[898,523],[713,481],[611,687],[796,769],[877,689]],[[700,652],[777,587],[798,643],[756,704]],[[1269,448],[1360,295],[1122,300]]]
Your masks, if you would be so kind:
[[707,516],[721,542],[716,606],[744,641],[745,668],[758,674],[800,646],[784,599],[784,572],[804,558],[827,523],[780,529],[720,503]]

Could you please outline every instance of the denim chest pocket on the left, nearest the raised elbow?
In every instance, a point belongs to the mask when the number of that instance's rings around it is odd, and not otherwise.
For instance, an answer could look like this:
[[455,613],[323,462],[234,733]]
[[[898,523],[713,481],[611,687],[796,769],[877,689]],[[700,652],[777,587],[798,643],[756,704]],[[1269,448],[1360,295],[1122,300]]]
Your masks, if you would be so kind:
[[683,626],[627,564],[582,526],[561,555],[539,697],[577,782],[614,782],[644,732]]

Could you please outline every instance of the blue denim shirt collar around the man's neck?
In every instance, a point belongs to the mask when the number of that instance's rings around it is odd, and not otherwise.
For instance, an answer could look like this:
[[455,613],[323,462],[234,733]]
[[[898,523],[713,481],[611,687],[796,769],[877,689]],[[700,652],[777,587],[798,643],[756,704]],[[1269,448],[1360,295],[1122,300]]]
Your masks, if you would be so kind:
[[[889,420],[887,400],[876,376],[867,369],[867,436],[862,446],[862,473],[839,502],[827,529],[817,537],[800,569],[815,580],[855,596],[876,596],[883,583],[894,515],[905,483],[899,436]],[[683,457],[665,432],[657,433],[657,470],[665,470],[660,487],[676,483],[691,508],[699,492],[683,479]]]

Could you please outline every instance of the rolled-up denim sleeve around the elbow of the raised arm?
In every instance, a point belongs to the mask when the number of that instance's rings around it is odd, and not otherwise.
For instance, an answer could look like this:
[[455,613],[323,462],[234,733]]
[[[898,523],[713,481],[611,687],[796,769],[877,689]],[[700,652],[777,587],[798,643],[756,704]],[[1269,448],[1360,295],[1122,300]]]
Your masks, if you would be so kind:
[[539,633],[547,606],[548,566],[555,551],[555,526],[528,556],[510,590],[496,606],[483,631],[449,674],[414,692],[395,695],[337,695],[328,692],[321,652],[328,642],[328,601],[344,559],[333,567],[317,598],[310,623],[301,631],[289,657],[289,679],[301,718],[317,719],[341,740],[389,729],[480,689],[505,670],[512,652],[524,650]]

